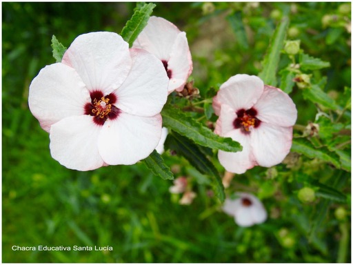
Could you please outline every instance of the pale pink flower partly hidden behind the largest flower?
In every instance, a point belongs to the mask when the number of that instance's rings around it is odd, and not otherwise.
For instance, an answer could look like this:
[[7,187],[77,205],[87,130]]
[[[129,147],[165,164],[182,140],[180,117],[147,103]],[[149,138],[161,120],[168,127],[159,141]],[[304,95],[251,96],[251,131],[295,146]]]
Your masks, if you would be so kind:
[[169,93],[183,90],[192,72],[192,59],[185,32],[161,17],[150,17],[132,47],[147,50],[163,62],[170,79]]

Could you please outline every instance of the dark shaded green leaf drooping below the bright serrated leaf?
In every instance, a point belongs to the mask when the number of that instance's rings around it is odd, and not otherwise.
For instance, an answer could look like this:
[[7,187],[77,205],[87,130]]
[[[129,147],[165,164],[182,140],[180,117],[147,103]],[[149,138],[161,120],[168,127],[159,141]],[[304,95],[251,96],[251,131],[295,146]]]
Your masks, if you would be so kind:
[[190,139],[183,137],[175,132],[170,132],[165,141],[165,146],[177,151],[178,154],[183,155],[189,163],[194,166],[200,173],[210,175],[211,186],[216,197],[221,202],[225,199],[224,187],[219,173],[210,160],[199,150],[199,147]]

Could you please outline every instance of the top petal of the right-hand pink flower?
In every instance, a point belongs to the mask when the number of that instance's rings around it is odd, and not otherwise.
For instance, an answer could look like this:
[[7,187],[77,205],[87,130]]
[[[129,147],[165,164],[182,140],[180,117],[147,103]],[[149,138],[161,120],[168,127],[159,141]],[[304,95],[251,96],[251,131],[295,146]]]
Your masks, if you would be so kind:
[[263,92],[263,81],[254,75],[234,75],[222,84],[216,95],[219,104],[227,104],[235,111],[252,108]]

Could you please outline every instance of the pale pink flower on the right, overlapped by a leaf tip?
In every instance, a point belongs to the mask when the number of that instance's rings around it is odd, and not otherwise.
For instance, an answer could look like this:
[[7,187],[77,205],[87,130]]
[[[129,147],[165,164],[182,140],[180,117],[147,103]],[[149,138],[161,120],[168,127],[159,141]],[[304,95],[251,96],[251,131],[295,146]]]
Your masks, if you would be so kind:
[[237,153],[219,150],[225,170],[241,174],[256,165],[274,166],[290,152],[296,107],[279,88],[264,86],[259,77],[235,75],[222,84],[213,108],[219,115],[214,133],[243,146]]

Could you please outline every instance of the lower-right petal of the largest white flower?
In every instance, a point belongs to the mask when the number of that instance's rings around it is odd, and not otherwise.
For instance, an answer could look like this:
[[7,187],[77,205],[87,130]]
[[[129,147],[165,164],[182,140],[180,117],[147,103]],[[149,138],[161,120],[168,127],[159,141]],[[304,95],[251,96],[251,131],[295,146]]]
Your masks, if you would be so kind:
[[131,165],[145,159],[161,139],[161,115],[139,117],[121,112],[108,119],[99,135],[99,153],[110,165]]

